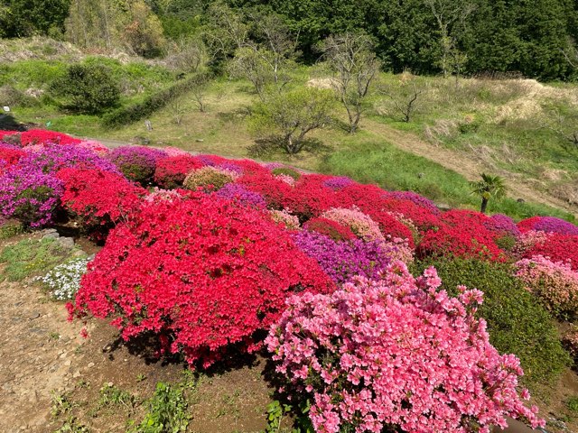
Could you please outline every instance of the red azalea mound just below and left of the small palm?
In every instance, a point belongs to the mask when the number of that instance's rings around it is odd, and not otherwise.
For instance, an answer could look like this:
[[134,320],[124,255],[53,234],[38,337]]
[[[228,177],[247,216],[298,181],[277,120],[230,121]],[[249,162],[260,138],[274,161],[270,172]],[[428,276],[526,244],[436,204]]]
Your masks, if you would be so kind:
[[467,225],[442,226],[437,231],[425,233],[416,248],[417,257],[455,257],[505,262],[507,257],[495,243],[494,235],[489,230],[478,226],[471,230]]

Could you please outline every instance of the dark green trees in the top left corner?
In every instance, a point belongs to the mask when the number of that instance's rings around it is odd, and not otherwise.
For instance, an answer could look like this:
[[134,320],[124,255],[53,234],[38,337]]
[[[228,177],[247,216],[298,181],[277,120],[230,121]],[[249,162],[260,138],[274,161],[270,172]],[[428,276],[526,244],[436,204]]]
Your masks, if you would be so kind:
[[64,31],[69,8],[70,0],[3,0],[0,37],[57,36]]

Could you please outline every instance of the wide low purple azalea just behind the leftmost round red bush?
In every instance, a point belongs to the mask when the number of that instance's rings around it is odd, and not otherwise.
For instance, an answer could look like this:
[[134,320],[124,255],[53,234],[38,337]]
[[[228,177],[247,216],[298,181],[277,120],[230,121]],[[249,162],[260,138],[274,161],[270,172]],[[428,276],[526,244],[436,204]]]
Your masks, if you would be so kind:
[[43,173],[55,173],[62,169],[76,167],[120,174],[115,164],[99,157],[89,149],[53,143],[47,143],[41,149],[28,153],[22,158],[20,165]]

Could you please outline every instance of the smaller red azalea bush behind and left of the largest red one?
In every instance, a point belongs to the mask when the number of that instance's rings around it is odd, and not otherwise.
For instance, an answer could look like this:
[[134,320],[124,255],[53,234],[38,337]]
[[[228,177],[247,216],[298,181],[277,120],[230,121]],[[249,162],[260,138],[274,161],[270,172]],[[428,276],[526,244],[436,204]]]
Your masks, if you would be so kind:
[[146,190],[122,176],[98,169],[63,169],[62,205],[79,217],[86,230],[102,237],[140,206]]

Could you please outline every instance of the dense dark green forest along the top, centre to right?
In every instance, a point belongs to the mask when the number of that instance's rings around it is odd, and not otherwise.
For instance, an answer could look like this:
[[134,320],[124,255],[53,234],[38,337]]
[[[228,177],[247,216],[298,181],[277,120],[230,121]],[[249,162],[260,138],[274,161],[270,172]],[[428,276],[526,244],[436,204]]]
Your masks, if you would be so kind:
[[[330,34],[365,31],[378,41],[377,53],[395,72],[437,73],[442,50],[438,25],[422,0],[263,0],[235,5],[270,5],[283,14],[300,50],[314,61],[312,47]],[[464,2],[455,0],[456,5]],[[574,37],[578,4],[573,0],[470,0],[473,13],[450,36],[467,55],[466,74],[518,72],[539,79],[572,78],[564,59],[568,38]],[[457,24],[456,24],[457,25]]]

